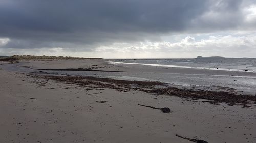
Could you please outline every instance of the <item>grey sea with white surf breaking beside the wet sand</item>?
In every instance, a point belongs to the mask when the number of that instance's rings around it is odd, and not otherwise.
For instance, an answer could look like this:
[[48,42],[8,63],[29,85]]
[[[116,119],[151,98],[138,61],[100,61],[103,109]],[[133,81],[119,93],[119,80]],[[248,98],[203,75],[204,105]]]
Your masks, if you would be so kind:
[[256,58],[193,58],[193,59],[110,59],[111,64],[138,64],[159,67],[256,72]]

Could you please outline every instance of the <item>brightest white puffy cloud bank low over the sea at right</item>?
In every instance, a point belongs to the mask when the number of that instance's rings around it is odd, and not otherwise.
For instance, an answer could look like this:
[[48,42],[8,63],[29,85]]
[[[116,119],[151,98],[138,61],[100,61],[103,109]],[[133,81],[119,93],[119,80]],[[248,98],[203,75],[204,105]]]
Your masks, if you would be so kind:
[[108,53],[109,57],[115,58],[193,58],[198,55],[255,57],[256,36],[209,36],[199,41],[187,36],[179,42],[114,43],[98,47],[95,52]]

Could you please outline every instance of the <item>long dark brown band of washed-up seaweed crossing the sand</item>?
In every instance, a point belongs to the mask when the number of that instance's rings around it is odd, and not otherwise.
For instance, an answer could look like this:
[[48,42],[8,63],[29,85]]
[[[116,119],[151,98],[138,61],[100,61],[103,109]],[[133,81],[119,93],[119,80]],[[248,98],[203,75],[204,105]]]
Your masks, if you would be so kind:
[[[44,75],[39,76],[36,74],[30,75],[32,77],[39,77],[44,79],[55,80],[65,83],[73,83],[81,86],[96,85],[99,88],[111,88],[118,91],[127,90],[140,90],[143,92],[156,94],[156,95],[170,95],[180,98],[190,99],[206,99],[206,102],[217,104],[227,103],[228,105],[244,105],[256,104],[256,96],[252,95],[238,95],[232,92],[226,91],[196,91],[190,89],[179,89],[176,87],[170,87],[167,83],[158,81],[128,81],[128,80],[116,80],[110,78],[97,78],[89,76],[52,76]],[[114,83],[114,84],[113,84]],[[155,86],[161,85],[163,88],[155,88]]]

